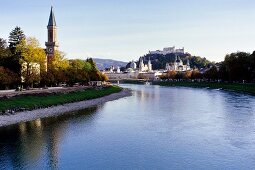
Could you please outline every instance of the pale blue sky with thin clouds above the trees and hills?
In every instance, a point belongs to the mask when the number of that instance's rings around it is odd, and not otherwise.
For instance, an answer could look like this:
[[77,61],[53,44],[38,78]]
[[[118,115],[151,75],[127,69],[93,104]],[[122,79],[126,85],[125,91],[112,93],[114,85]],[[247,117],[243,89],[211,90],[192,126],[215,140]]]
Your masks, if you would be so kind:
[[66,57],[137,60],[175,46],[222,61],[255,50],[254,0],[0,0],[0,37],[15,26],[47,41],[51,5]]

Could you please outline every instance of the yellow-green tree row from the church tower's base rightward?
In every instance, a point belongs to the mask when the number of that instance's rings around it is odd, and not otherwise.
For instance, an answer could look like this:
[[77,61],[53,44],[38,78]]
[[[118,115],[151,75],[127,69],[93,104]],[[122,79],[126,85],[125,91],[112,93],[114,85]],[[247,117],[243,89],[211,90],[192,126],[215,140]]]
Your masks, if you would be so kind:
[[48,71],[43,73],[42,84],[55,86],[67,83],[72,86],[76,83],[88,84],[89,81],[106,81],[108,77],[102,74],[95,62],[89,58],[86,61],[66,60],[63,53],[57,52],[48,66]]

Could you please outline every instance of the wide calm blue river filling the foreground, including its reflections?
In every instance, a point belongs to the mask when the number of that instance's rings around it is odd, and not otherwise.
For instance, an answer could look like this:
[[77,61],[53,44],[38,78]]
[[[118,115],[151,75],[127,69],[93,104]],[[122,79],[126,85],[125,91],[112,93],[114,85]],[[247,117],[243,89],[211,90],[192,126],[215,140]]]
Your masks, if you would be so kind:
[[0,169],[255,169],[255,97],[122,85],[133,96],[0,129]]

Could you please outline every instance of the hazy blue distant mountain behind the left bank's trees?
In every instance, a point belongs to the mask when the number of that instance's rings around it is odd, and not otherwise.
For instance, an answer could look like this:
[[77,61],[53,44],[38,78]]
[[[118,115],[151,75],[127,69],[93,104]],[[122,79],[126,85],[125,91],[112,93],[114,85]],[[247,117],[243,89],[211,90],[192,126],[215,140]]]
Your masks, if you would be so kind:
[[93,58],[96,62],[99,70],[104,70],[106,68],[110,68],[111,66],[116,67],[126,67],[127,62],[111,60],[111,59],[101,59],[101,58]]

